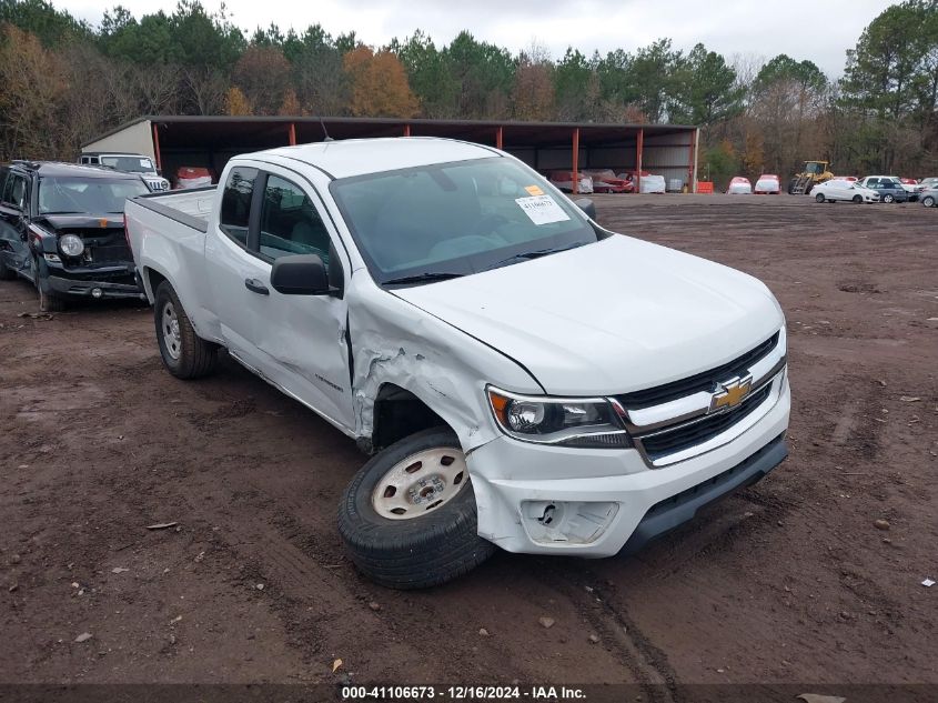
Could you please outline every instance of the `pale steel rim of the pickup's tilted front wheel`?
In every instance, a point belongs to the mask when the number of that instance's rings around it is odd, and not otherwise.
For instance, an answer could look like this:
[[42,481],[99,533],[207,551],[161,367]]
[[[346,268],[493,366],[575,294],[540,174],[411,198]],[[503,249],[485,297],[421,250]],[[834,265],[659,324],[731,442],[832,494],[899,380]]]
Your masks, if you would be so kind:
[[386,520],[415,520],[448,503],[468,483],[462,450],[435,446],[394,464],[371,494],[374,511]]

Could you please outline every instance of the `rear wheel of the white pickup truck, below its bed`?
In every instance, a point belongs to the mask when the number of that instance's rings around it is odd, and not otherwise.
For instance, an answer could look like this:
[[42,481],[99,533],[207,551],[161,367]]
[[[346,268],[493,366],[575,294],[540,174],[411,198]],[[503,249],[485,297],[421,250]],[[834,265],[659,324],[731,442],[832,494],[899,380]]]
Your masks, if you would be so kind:
[[[218,345],[195,334],[189,315],[185,314],[169,281],[160,283],[154,298],[153,321],[157,327],[157,343],[160,345],[160,356],[167,370],[175,378],[186,380],[212,373],[218,362]],[[163,315],[168,313],[168,307],[175,315],[176,339],[172,339],[173,333],[163,324]],[[170,335],[169,341],[168,335]]]

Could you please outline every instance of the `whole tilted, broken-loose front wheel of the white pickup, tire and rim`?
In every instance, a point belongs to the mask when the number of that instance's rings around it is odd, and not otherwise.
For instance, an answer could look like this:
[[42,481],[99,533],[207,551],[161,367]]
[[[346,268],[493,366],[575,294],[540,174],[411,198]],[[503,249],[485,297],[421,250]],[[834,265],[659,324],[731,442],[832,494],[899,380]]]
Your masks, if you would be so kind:
[[359,571],[391,589],[452,581],[488,559],[460,441],[424,430],[373,456],[339,505],[339,533]]

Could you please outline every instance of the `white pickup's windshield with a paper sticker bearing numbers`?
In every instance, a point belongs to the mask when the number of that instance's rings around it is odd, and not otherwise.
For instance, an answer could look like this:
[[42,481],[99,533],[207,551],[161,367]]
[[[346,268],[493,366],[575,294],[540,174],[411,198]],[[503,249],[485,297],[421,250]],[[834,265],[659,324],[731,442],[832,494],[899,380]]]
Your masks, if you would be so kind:
[[380,284],[467,275],[597,239],[578,208],[501,157],[340,179],[330,188]]

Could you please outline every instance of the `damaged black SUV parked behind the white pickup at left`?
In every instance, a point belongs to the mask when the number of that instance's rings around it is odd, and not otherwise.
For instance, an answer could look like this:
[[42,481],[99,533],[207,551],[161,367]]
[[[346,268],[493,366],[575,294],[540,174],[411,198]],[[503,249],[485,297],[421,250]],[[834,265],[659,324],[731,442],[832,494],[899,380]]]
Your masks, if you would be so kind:
[[0,165],[0,279],[32,281],[43,311],[69,298],[139,298],[123,232],[140,175],[71,163]]

